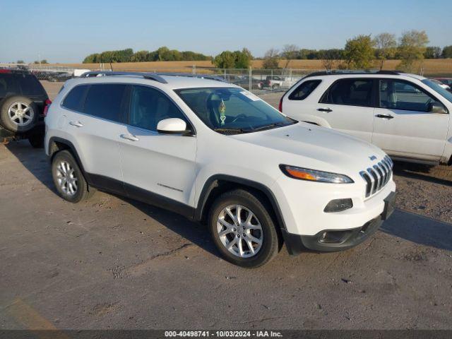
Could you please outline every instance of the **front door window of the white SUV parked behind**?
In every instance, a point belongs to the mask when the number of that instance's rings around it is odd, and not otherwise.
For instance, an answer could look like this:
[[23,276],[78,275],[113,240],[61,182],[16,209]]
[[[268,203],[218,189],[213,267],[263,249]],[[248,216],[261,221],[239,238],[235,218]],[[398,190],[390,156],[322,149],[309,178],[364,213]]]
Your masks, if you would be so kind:
[[431,104],[437,102],[432,95],[406,81],[380,80],[379,93],[379,107],[387,109],[429,112]]

